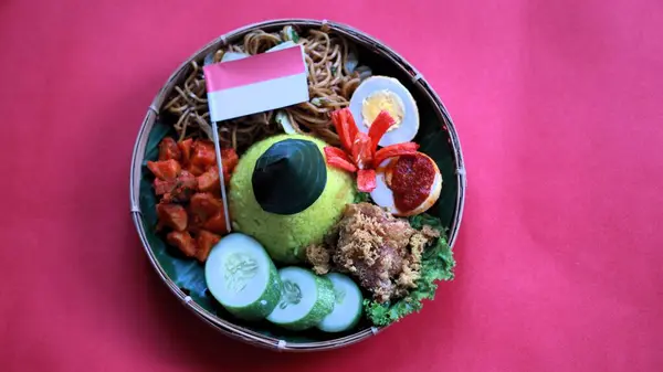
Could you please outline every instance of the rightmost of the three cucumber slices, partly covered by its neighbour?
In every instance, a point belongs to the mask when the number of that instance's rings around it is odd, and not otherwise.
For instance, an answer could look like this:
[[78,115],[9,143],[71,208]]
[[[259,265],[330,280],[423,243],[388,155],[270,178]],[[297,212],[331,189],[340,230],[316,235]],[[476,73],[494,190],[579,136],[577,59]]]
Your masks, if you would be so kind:
[[338,273],[329,273],[325,276],[334,285],[336,302],[334,310],[317,325],[317,328],[325,332],[346,331],[359,322],[364,296],[357,284],[348,276]]

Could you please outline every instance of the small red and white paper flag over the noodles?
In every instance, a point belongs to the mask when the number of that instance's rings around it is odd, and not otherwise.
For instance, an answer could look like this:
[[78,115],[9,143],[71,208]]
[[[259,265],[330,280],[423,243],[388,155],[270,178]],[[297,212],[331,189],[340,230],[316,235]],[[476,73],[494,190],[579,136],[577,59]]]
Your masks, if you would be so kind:
[[302,45],[203,67],[211,121],[308,100]]

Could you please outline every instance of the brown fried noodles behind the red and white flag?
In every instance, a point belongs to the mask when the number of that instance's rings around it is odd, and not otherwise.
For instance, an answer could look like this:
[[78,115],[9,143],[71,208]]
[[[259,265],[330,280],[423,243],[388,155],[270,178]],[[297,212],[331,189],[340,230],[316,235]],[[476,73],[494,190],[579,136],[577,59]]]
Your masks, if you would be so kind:
[[[350,45],[345,39],[330,34],[326,28],[307,30],[305,35],[295,34],[294,38],[290,26],[277,33],[257,30],[246,34],[243,43],[215,51],[211,62],[220,62],[228,52],[250,55],[263,53],[288,40],[304,46],[311,100],[286,107],[284,111],[296,131],[313,134],[332,145],[338,145],[338,135],[332,125],[329,113],[348,106],[351,94],[360,83],[359,73],[348,71]],[[165,109],[176,117],[175,128],[180,139],[211,137],[204,76],[199,62],[191,62],[189,75],[182,84],[175,87]],[[218,127],[221,145],[238,151],[283,131],[273,110],[220,121]]]

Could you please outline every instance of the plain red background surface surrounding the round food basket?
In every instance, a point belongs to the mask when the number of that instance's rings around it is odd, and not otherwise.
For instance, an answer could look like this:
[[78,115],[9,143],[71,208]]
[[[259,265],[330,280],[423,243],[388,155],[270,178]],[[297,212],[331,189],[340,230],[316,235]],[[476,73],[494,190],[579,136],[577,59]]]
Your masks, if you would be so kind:
[[[3,371],[661,371],[663,3],[0,1]],[[193,51],[288,17],[352,24],[429,79],[469,183],[456,280],[316,354],[227,339],[159,283],[131,148]]]

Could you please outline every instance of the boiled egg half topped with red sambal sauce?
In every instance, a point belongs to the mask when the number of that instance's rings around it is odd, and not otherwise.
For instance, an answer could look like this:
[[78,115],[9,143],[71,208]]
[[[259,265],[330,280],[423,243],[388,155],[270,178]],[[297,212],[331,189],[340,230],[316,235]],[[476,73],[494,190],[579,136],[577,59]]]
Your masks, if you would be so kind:
[[422,152],[387,159],[376,170],[372,201],[397,216],[428,211],[440,198],[442,173]]

